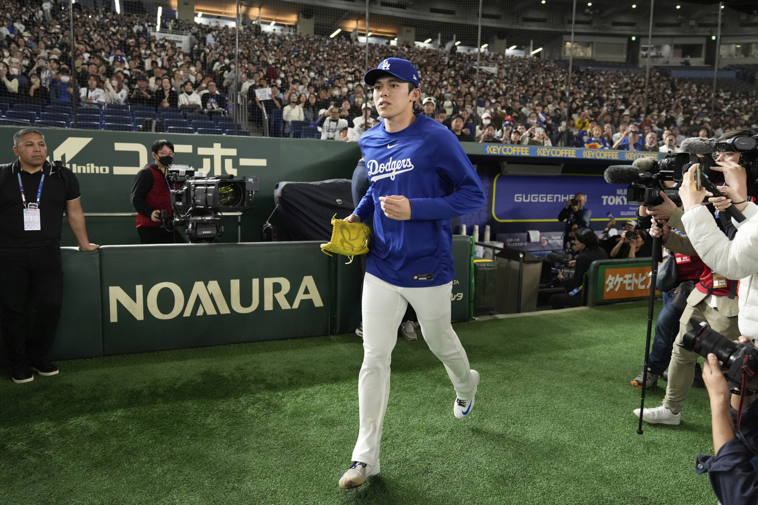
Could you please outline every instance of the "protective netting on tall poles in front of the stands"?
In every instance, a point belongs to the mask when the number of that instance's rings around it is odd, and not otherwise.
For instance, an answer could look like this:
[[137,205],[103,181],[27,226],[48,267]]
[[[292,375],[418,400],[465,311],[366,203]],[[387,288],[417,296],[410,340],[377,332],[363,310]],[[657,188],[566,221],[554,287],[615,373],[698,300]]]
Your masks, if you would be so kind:
[[[355,140],[376,118],[362,76],[388,57],[418,67],[418,112],[461,115],[474,140],[483,119],[487,140],[535,126],[559,145],[590,120],[609,144],[622,122],[680,139],[756,123],[758,12],[744,2],[0,5],[5,123]],[[324,132],[332,108],[346,131]]]

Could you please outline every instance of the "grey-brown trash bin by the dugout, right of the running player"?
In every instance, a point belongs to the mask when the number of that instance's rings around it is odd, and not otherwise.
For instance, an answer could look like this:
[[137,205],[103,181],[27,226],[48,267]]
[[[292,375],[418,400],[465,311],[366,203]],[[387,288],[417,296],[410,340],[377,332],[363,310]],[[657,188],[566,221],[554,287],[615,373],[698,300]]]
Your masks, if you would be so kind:
[[495,255],[496,312],[510,314],[537,310],[543,259],[512,248],[503,249]]

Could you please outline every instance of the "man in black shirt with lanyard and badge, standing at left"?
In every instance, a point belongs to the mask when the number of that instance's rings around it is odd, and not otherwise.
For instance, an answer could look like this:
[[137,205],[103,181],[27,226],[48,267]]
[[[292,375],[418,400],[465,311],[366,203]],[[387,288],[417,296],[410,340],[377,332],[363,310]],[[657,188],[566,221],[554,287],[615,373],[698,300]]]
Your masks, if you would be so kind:
[[[68,225],[80,251],[93,251],[80,202],[79,182],[66,167],[52,165],[36,129],[13,136],[17,161],[0,165],[0,324],[13,381],[30,382],[58,373],[48,358],[63,301],[61,226]],[[33,331],[27,336],[27,308]]]

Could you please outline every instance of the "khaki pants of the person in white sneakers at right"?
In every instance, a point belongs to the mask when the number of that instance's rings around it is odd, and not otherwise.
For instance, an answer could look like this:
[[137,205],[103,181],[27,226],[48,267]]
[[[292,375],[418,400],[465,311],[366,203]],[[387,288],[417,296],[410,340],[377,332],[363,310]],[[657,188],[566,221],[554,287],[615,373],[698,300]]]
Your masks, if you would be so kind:
[[679,334],[676,335],[674,348],[669,363],[669,384],[666,385],[666,397],[663,398],[663,407],[678,413],[684,404],[684,397],[692,387],[692,381],[695,378],[695,363],[698,354],[685,351],[679,346],[684,333],[690,331],[692,326],[690,318],[697,317],[700,320],[706,320],[710,327],[716,332],[721,333],[726,338],[737,340],[740,336],[740,330],[737,326],[737,316],[727,317],[719,313],[714,307],[709,307],[705,301],[700,301],[695,305],[687,305],[684,312],[679,318]]

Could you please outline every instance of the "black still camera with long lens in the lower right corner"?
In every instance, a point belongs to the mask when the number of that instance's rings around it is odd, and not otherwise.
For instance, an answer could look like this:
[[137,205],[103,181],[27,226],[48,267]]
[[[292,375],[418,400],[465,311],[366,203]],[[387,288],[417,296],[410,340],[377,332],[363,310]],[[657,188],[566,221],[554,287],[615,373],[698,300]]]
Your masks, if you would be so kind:
[[729,340],[719,332],[714,331],[703,320],[690,318],[692,329],[684,333],[681,347],[688,351],[708,358],[709,353],[716,354],[721,363],[727,382],[736,388],[742,387],[743,369],[747,379],[758,373],[758,348],[750,343],[740,343]]

